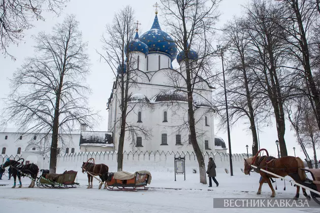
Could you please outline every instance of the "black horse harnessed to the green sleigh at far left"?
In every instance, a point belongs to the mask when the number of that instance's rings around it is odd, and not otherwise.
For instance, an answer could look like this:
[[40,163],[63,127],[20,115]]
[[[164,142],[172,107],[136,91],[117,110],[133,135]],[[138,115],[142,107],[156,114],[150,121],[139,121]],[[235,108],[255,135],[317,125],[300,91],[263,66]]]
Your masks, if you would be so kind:
[[[22,158],[20,158],[19,160],[21,160],[21,159]],[[2,168],[6,168],[8,166],[11,166],[11,168],[12,168],[12,176],[13,176],[13,180],[14,180],[14,184],[13,184],[12,188],[16,188],[17,176],[18,176],[19,184],[20,184],[19,188],[21,188],[22,187],[21,176],[26,176],[26,175],[30,175],[32,178],[31,183],[28,186],[28,188],[34,188],[35,187],[35,180],[37,179],[37,175],[39,172],[38,166],[34,163],[22,165],[18,161],[9,160],[9,158],[8,158],[7,161],[2,165]]]

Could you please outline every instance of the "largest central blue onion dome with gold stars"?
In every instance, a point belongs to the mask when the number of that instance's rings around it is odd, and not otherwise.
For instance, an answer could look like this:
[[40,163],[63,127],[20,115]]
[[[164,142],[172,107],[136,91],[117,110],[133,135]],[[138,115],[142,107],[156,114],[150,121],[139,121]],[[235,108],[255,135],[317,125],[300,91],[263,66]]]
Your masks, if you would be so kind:
[[149,53],[161,53],[169,56],[171,60],[177,56],[176,44],[167,32],[162,31],[157,15],[151,29],[141,35],[140,41],[148,46]]

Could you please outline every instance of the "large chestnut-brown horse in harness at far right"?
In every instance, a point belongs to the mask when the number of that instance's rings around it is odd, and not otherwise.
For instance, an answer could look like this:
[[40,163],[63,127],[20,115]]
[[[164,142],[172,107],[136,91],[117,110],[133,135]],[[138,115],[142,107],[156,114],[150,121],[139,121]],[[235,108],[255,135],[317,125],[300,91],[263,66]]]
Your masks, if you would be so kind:
[[[303,161],[299,157],[286,156],[281,158],[275,158],[271,156],[253,156],[248,159],[244,159],[244,173],[249,174],[253,169],[253,166],[257,166],[258,169],[254,169],[255,172],[260,173],[263,177],[260,182],[260,186],[257,194],[261,194],[261,188],[264,182],[267,182],[271,191],[271,197],[275,197],[275,191],[270,181],[270,177],[278,178],[272,174],[268,174],[264,171],[261,171],[260,168],[275,173],[279,176],[285,177],[287,175],[291,176],[294,181],[301,184],[307,180],[305,172],[301,169],[304,168]],[[298,175],[297,175],[298,174]],[[300,186],[297,186],[297,193],[294,197],[295,200],[299,198]],[[306,190],[302,188],[303,195],[310,200],[310,196],[307,195]]]

